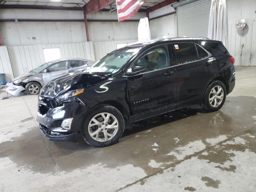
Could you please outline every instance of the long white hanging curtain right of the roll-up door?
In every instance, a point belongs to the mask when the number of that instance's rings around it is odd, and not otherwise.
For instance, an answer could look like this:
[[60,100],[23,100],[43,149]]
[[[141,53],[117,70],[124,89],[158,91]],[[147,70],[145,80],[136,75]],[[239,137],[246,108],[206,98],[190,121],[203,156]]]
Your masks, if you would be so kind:
[[228,49],[228,15],[226,0],[212,0],[208,38],[222,41]]

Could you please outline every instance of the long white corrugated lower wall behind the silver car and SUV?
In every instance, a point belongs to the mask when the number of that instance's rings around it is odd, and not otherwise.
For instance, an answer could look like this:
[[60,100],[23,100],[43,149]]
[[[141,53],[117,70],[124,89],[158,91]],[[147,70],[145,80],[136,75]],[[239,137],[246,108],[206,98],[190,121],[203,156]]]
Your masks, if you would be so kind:
[[60,48],[62,58],[99,60],[116,49],[116,44],[133,43],[137,40],[80,42],[62,44],[38,44],[27,46],[0,46],[0,73],[11,80],[45,62],[44,48]]

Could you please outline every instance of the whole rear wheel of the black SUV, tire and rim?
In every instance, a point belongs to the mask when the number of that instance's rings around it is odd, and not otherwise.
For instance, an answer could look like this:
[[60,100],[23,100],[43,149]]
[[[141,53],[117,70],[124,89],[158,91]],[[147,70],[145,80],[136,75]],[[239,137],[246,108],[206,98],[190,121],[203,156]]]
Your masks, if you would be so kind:
[[215,80],[205,91],[203,108],[206,111],[218,111],[226,100],[226,86],[223,82]]

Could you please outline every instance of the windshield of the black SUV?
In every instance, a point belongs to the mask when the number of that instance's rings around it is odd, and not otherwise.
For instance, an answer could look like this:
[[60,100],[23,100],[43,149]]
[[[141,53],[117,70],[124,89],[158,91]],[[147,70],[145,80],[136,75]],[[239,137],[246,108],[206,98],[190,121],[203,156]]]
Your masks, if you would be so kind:
[[96,62],[92,67],[84,70],[84,72],[107,72],[113,74],[122,68],[141,48],[142,46],[117,49]]

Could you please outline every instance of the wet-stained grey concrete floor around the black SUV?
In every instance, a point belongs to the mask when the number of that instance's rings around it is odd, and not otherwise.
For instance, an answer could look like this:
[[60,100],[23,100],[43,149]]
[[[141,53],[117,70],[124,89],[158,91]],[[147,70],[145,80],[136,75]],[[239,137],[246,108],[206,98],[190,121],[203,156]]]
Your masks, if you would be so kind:
[[106,148],[48,141],[37,97],[0,100],[0,191],[255,191],[256,67],[218,112],[152,118]]

